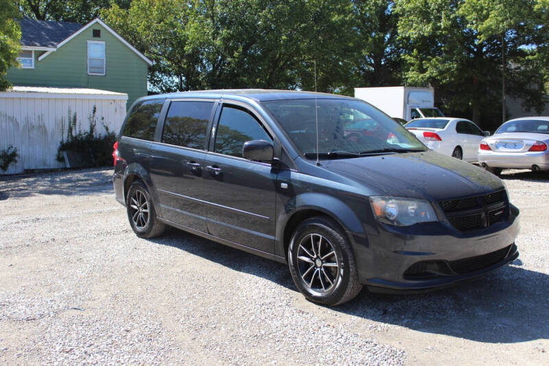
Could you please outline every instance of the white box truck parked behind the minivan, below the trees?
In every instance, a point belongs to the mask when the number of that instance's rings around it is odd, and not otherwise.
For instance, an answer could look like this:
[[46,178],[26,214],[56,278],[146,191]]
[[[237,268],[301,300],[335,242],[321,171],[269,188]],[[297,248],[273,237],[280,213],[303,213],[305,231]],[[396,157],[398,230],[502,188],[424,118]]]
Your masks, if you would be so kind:
[[355,88],[355,98],[369,102],[390,117],[406,121],[422,117],[444,117],[439,108],[434,106],[432,88]]

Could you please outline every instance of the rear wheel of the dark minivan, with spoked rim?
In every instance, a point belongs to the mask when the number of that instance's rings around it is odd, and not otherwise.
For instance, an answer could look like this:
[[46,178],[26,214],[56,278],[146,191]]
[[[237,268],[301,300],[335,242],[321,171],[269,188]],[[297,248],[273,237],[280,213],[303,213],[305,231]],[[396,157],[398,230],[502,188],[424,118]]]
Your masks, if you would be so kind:
[[154,238],[165,230],[163,222],[156,218],[152,198],[142,181],[135,181],[126,196],[128,220],[135,235],[139,238]]

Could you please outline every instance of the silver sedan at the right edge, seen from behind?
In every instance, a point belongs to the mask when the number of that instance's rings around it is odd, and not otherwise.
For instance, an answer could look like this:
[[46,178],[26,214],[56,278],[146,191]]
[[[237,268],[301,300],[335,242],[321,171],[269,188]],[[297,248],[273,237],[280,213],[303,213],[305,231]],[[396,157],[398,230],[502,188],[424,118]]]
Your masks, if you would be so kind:
[[548,146],[549,117],[511,119],[480,141],[478,162],[496,174],[502,169],[549,170]]

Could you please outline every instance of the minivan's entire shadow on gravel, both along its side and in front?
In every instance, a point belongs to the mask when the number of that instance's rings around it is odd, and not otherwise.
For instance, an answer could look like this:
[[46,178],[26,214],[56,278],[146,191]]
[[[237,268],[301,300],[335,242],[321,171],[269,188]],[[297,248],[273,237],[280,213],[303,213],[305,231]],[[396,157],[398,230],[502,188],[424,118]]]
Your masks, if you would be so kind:
[[[235,271],[296,291],[288,266],[167,229],[150,240],[175,247]],[[520,268],[520,260],[460,286],[421,295],[379,295],[366,289],[331,311],[381,323],[472,341],[515,343],[549,338],[549,275]]]

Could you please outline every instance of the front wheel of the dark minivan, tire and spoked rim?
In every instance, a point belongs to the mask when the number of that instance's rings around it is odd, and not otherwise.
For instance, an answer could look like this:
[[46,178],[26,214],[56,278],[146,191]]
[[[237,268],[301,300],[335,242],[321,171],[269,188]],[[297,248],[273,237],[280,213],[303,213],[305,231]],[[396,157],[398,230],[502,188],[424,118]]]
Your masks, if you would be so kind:
[[342,304],[362,289],[351,244],[330,218],[301,222],[288,247],[288,264],[297,288],[318,304]]

